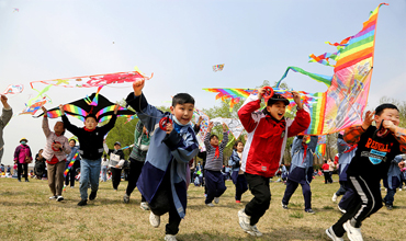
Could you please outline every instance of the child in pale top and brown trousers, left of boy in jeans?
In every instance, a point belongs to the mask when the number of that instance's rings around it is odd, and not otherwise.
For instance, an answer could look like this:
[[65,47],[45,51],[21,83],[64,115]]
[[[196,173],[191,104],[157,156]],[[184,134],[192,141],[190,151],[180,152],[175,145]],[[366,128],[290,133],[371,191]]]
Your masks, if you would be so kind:
[[42,110],[44,112],[43,130],[46,137],[43,157],[47,163],[48,185],[50,193],[53,194],[49,199],[60,202],[64,200],[63,188],[66,156],[71,152],[71,149],[68,138],[64,136],[64,123],[57,122],[54,126],[54,131],[50,131],[47,110],[44,106],[42,106]]

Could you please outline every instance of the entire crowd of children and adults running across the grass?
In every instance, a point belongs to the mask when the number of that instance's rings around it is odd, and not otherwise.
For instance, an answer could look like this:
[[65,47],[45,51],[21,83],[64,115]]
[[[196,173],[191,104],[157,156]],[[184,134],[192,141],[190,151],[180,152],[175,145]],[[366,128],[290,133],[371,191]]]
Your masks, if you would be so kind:
[[[204,186],[204,204],[210,208],[215,208],[221,202],[227,190],[225,180],[228,177],[235,185],[236,203],[240,203],[244,193],[249,191],[253,198],[244,205],[236,218],[243,231],[253,237],[262,236],[257,223],[270,207],[270,179],[277,173],[280,173],[281,182],[285,184],[282,208],[289,209],[290,199],[301,185],[304,211],[315,214],[312,208],[311,183],[314,175],[322,175],[322,170],[313,169],[317,136],[303,135],[311,124],[311,115],[298,92],[292,92],[297,108],[294,119],[284,116],[289,101],[282,95],[273,94],[266,107],[258,111],[267,89],[260,88],[256,94],[251,94],[238,111],[238,117],[248,133],[246,142],[235,141],[233,154],[224,165],[223,152],[228,142],[226,125],[223,125],[221,141],[212,133],[214,124],[208,124],[204,138],[205,151],[200,152],[195,135],[202,119],[191,125],[194,99],[188,93],[179,93],[172,97],[171,112],[163,113],[148,104],[143,92],[144,84],[144,80],[134,82],[134,92],[125,99],[126,104],[137,113],[139,122],[134,133],[128,184],[123,202],[128,203],[137,187],[142,194],[140,208],[150,211],[149,222],[155,228],[160,226],[160,217],[169,213],[165,240],[177,240],[179,225],[185,217],[187,191],[191,182]],[[4,95],[1,95],[1,102],[0,157],[2,129],[12,115]],[[79,164],[78,206],[86,206],[88,200],[97,198],[99,182],[108,181],[109,170],[113,188],[117,191],[126,160],[121,142],[116,141],[113,149],[110,149],[104,136],[115,125],[119,105],[115,105],[108,124],[99,126],[99,117],[90,112],[84,117],[83,127],[72,125],[65,115],[64,105],[59,105],[61,122],[57,122],[53,130],[48,126],[47,110],[42,110],[45,147],[35,157],[35,174],[47,179],[52,194],[49,199],[64,200],[64,182],[66,186],[75,186]],[[372,125],[373,122],[375,125]],[[337,202],[338,196],[342,195],[338,204],[342,217],[326,229],[331,240],[342,240],[345,233],[350,240],[362,240],[360,227],[364,219],[376,213],[382,202],[387,209],[393,208],[396,188],[405,180],[405,161],[399,154],[406,152],[406,130],[398,127],[398,108],[393,104],[382,104],[375,112],[366,112],[362,125],[352,126],[338,135],[338,160],[336,163],[325,161],[322,167],[326,184],[332,183],[331,172],[338,168],[340,187],[332,194],[331,200]],[[78,144],[76,139],[65,137],[66,130],[77,137]],[[287,170],[282,160],[289,137],[294,137],[294,140],[292,162]],[[22,138],[14,152],[20,182],[21,176],[29,182],[27,164],[33,161],[27,142],[26,138]],[[201,158],[202,163],[196,162],[195,157]],[[74,160],[76,164],[71,165]],[[64,171],[67,169],[69,172],[65,177]],[[384,198],[377,192],[382,179],[387,188]]]

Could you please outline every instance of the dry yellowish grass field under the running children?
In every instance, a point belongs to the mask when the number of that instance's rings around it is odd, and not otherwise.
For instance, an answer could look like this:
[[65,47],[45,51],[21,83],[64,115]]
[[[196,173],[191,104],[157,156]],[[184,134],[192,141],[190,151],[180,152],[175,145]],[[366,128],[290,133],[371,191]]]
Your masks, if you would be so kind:
[[[119,192],[113,191],[111,182],[101,183],[95,200],[78,207],[79,183],[67,188],[65,200],[58,203],[48,200],[47,181],[30,181],[0,179],[1,240],[163,240],[168,215],[161,217],[159,228],[153,228],[149,211],[139,208],[137,190],[129,204],[123,203],[126,182],[121,183]],[[326,185],[323,176],[312,182],[316,215],[304,213],[301,187],[293,195],[290,209],[284,210],[281,199],[285,186],[271,183],[270,209],[257,225],[263,237],[251,238],[239,228],[237,211],[252,195],[248,191],[243,195],[243,204],[236,204],[234,185],[230,181],[226,184],[228,188],[215,207],[204,205],[202,187],[190,186],[187,217],[180,225],[178,240],[329,240],[325,229],[340,217],[337,204],[331,202],[338,183]],[[363,222],[364,240],[406,240],[405,196],[406,192],[397,192],[393,210],[383,207]]]

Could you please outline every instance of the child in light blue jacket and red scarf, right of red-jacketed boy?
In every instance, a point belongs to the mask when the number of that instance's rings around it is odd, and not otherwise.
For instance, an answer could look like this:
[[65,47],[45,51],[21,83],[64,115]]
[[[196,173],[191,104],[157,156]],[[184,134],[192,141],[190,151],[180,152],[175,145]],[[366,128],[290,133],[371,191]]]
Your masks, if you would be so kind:
[[292,164],[287,175],[286,190],[282,199],[282,207],[287,209],[289,200],[296,191],[298,184],[302,185],[303,197],[305,200],[305,211],[315,214],[312,209],[311,182],[313,180],[313,153],[317,146],[317,136],[312,136],[306,144],[308,136],[296,136],[292,145]]

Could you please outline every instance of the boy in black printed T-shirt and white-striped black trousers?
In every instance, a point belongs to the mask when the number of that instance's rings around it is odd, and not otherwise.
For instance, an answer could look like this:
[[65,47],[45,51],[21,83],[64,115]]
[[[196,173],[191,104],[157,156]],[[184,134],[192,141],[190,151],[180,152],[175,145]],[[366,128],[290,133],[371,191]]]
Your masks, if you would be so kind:
[[[372,126],[375,120],[376,126]],[[362,125],[346,129],[343,140],[358,144],[356,156],[347,170],[347,179],[356,191],[354,205],[326,233],[331,240],[362,240],[362,221],[382,207],[380,181],[385,177],[391,161],[406,152],[406,130],[398,127],[396,105],[381,104],[375,112],[366,112]]]

